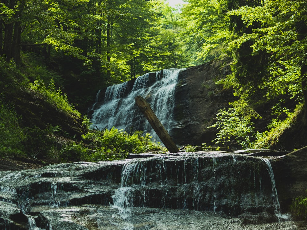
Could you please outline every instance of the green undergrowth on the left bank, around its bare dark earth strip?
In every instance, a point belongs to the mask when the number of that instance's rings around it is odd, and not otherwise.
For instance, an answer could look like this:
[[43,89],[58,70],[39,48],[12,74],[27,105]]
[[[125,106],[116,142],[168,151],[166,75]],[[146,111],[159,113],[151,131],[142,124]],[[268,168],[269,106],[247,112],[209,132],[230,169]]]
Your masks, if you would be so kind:
[[[25,73],[21,73],[14,62],[7,63],[5,56],[0,56],[0,158],[27,156],[52,162],[94,162],[125,159],[129,153],[166,151],[160,143],[151,141],[149,133],[143,136],[142,131],[130,135],[115,127],[103,131],[90,130],[91,121],[86,116],[80,126],[87,127],[88,132],[81,139],[80,136],[70,136],[59,125],[45,124],[45,128],[22,125],[22,117],[17,114],[10,98],[14,95],[10,93],[18,90],[28,90],[35,98],[52,105],[54,111],[81,117],[68,102],[67,95],[56,87],[52,78],[48,79],[44,69],[32,68],[28,77],[27,71],[23,70]],[[43,79],[40,74],[44,74]],[[45,84],[47,80],[48,86]]]

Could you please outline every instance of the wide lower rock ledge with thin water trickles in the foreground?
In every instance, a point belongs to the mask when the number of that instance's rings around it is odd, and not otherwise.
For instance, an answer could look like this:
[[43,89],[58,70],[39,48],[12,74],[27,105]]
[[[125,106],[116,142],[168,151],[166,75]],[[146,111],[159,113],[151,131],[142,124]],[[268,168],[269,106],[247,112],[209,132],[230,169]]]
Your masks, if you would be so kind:
[[0,229],[296,229],[278,222],[268,160],[221,151],[138,156],[0,172]]

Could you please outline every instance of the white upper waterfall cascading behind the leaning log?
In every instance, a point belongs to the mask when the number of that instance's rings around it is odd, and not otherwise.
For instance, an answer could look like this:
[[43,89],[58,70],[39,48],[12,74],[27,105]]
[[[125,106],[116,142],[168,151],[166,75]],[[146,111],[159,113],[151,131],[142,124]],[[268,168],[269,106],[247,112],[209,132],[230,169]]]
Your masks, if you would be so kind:
[[142,130],[157,139],[150,124],[135,105],[134,98],[141,95],[151,105],[165,129],[171,131],[175,86],[180,71],[181,69],[166,69],[147,73],[135,79],[132,88],[129,82],[109,86],[103,102],[100,103],[101,95],[98,94],[101,94],[101,91],[99,91],[92,106],[93,128],[103,130],[115,126],[124,131]]

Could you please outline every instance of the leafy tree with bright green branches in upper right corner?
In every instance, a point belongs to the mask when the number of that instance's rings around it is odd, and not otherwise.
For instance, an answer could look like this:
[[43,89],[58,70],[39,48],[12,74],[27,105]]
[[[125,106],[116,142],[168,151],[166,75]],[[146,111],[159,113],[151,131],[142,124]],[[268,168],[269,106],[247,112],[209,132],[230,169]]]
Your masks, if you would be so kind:
[[[228,12],[229,16],[240,18],[245,28],[250,28],[249,33],[237,33],[231,44],[236,68],[242,68],[235,69],[233,77],[258,75],[249,78],[245,85],[255,81],[259,89],[266,90],[267,98],[284,94],[298,101],[306,99],[306,6],[307,2],[300,0],[265,1],[262,6],[242,6]],[[235,56],[242,48],[250,50],[249,60],[258,56],[259,61],[253,63],[259,63],[259,68],[251,69],[255,64]]]

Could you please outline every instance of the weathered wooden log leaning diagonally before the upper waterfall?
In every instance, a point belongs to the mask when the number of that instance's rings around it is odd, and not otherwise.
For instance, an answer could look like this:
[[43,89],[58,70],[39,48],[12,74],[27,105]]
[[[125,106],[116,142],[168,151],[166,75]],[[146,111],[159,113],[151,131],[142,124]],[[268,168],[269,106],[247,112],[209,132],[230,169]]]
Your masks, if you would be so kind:
[[173,142],[173,139],[169,136],[168,132],[165,130],[165,128],[157,118],[156,114],[151,109],[150,105],[146,102],[146,100],[141,96],[137,96],[134,99],[139,109],[144,114],[150,125],[153,127],[153,130],[157,133],[168,151],[170,153],[179,152],[179,149]]

